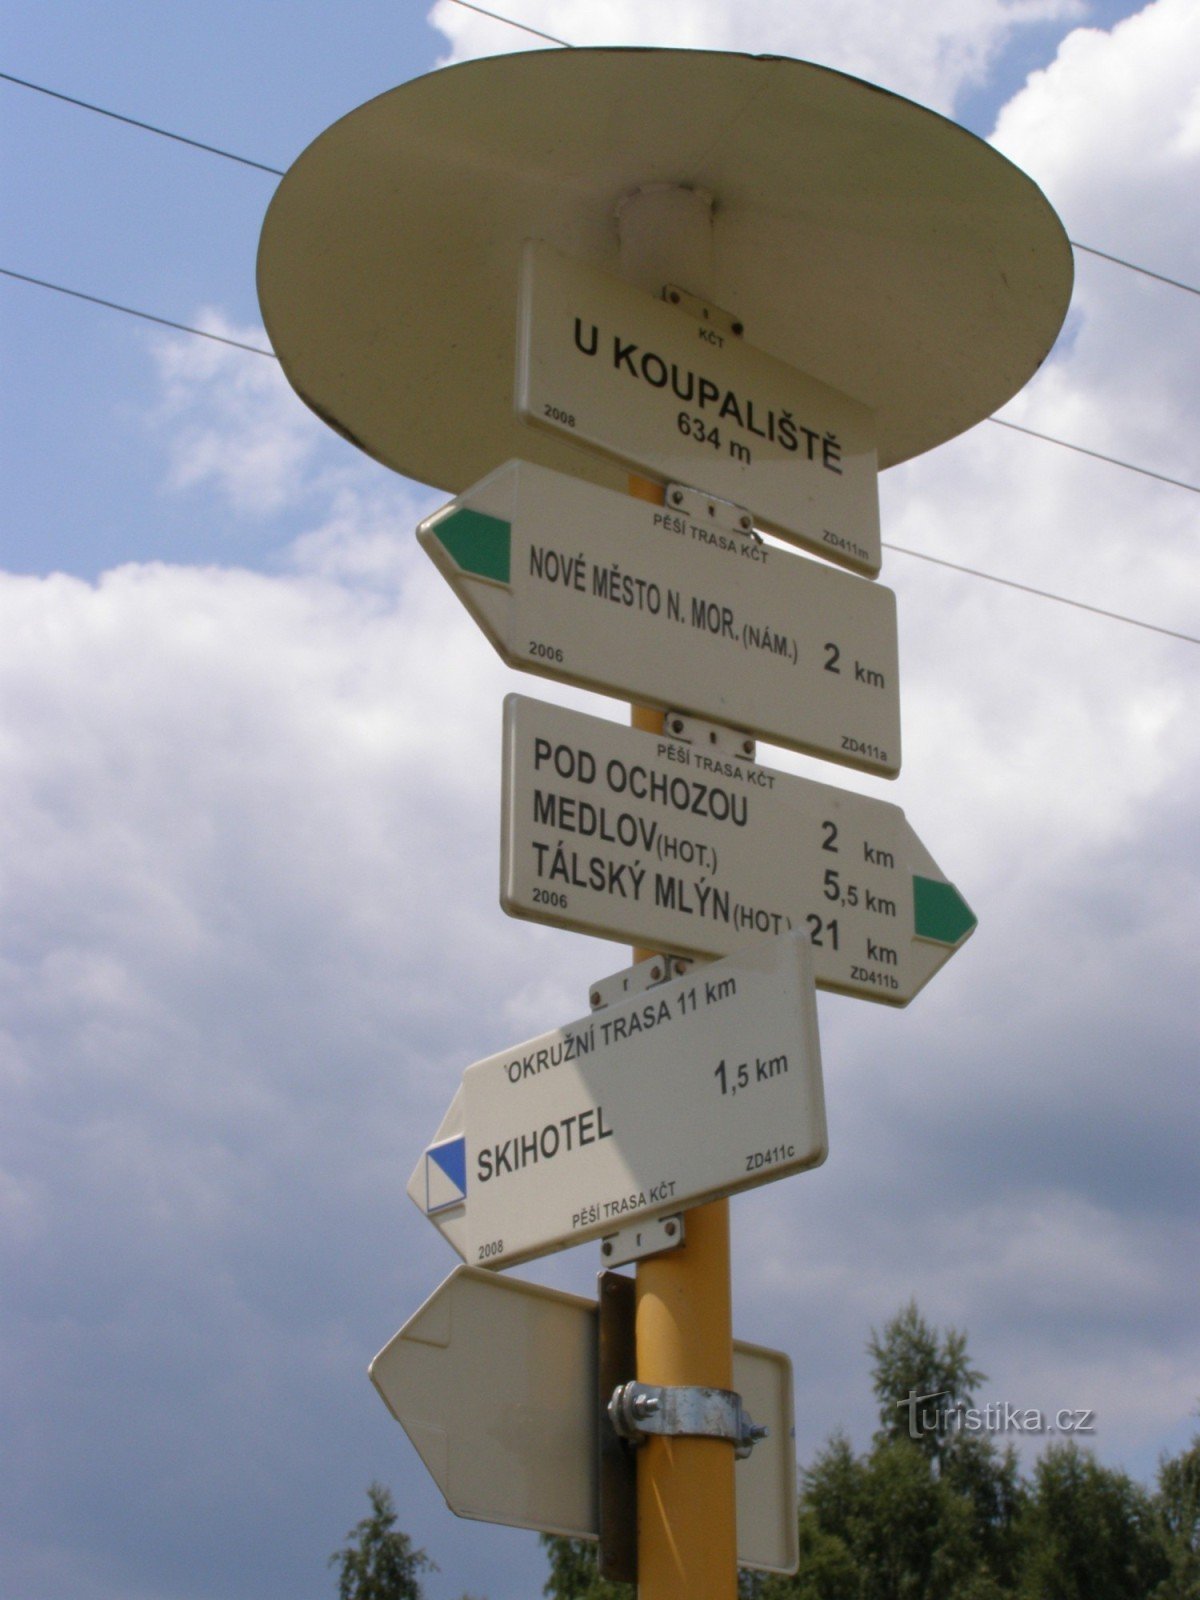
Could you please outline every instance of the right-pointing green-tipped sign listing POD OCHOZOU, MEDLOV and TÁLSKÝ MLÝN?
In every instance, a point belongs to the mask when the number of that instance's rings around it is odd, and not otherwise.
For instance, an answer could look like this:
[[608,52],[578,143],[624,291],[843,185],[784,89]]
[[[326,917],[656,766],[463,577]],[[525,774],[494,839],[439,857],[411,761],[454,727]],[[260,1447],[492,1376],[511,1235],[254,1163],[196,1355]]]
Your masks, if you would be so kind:
[[501,904],[728,955],[803,928],[819,989],[907,1005],[974,915],[899,806],[510,694]]

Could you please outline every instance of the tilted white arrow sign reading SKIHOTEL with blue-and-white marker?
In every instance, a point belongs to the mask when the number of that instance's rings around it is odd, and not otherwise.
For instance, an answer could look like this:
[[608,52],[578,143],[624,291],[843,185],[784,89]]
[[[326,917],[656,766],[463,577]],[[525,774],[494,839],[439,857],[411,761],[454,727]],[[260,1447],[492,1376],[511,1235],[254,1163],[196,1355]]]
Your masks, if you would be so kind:
[[502,1267],[826,1154],[813,965],[794,933],[467,1067],[408,1192],[467,1262]]

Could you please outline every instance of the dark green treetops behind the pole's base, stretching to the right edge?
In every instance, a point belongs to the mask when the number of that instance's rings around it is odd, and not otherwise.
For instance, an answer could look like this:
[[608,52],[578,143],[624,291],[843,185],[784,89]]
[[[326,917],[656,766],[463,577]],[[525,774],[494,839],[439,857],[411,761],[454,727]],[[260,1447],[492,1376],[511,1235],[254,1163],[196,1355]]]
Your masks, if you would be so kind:
[[[870,1448],[834,1434],[802,1470],[800,1568],[742,1573],[744,1600],[1200,1600],[1200,1438],[1154,1491],[1074,1442],[1022,1477],[1011,1446],[955,1424],[984,1382],[966,1334],[910,1302],[867,1350]],[[542,1544],[549,1600],[632,1600],[597,1576],[595,1546]]]

